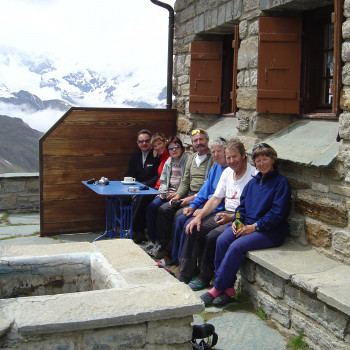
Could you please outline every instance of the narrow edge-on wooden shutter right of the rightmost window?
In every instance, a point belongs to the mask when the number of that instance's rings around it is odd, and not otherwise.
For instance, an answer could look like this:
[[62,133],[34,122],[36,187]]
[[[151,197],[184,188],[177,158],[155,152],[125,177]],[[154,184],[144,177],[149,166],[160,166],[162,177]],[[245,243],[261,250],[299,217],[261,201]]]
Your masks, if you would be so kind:
[[332,84],[332,112],[340,113],[340,92],[341,92],[341,38],[343,24],[344,0],[334,0],[334,13],[332,22],[334,23],[334,61],[333,61],[333,84]]

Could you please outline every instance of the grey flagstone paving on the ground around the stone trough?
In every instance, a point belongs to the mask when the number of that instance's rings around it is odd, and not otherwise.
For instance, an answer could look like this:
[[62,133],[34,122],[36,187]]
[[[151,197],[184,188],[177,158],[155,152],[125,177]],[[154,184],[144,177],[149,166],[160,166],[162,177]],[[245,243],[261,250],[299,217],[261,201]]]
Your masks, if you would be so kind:
[[[0,218],[3,213],[0,213]],[[91,242],[99,234],[79,233],[40,237],[39,214],[12,214],[0,222],[1,247],[20,245]],[[204,291],[195,292],[198,296]],[[211,323],[219,340],[220,350],[282,350],[289,341],[268,322],[260,319],[250,306],[232,303],[225,308],[208,307],[194,317],[193,324]]]

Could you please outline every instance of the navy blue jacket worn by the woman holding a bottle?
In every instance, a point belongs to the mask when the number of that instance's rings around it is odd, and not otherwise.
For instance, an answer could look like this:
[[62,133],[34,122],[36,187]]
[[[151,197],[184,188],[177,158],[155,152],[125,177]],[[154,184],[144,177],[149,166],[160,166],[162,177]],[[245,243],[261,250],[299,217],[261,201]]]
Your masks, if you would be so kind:
[[259,231],[286,235],[290,198],[288,180],[277,169],[264,177],[259,172],[244,187],[236,212],[245,225],[257,223]]

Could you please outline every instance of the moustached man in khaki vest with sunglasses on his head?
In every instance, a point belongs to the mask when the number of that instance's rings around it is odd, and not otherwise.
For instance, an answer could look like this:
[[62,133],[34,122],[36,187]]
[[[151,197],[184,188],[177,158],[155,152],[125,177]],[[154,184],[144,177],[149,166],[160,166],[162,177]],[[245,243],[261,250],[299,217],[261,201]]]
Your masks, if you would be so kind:
[[157,259],[167,258],[168,261],[170,260],[174,218],[181,215],[182,208],[188,206],[195,198],[214,164],[208,146],[209,136],[207,132],[203,129],[195,129],[191,132],[191,139],[195,152],[188,157],[176,195],[158,209],[157,232],[161,247],[155,255]]

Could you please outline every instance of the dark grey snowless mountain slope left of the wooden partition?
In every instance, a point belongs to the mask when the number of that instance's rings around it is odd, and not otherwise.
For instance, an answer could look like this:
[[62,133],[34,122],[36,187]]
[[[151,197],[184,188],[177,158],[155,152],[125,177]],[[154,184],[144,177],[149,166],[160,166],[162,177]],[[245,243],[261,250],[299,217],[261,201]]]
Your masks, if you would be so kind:
[[0,173],[38,172],[42,135],[20,118],[0,115]]

